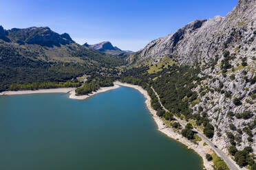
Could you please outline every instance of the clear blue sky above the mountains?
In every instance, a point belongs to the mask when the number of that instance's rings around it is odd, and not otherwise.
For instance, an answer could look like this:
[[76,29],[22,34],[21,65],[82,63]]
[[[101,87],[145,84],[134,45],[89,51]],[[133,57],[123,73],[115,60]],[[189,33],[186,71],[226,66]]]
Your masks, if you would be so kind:
[[78,42],[109,40],[137,51],[195,19],[226,16],[237,0],[6,0],[0,3],[0,25],[48,26]]

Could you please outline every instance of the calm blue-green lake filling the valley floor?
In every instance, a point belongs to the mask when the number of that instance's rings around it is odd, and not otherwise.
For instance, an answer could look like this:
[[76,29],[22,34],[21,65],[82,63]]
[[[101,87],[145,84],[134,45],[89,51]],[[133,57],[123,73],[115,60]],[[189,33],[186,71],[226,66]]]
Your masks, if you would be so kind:
[[0,169],[202,170],[192,150],[158,132],[138,90],[86,100],[68,94],[0,97]]

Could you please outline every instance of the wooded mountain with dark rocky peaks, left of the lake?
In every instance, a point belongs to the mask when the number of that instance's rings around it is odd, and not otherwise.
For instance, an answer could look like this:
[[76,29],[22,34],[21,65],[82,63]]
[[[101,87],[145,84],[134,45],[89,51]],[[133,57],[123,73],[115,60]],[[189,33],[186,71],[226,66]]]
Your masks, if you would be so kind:
[[84,74],[109,74],[105,70],[114,71],[122,63],[49,27],[5,30],[0,26],[0,90],[14,83],[65,82]]

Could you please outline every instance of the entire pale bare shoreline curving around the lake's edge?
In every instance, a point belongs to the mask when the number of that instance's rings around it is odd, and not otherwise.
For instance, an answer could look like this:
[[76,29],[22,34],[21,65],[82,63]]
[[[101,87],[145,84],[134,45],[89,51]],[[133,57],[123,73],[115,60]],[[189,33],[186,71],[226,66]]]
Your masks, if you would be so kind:
[[156,125],[158,125],[158,130],[162,132],[163,134],[169,136],[170,138],[173,138],[175,141],[178,141],[188,147],[188,149],[193,149],[203,160],[204,167],[207,170],[212,170],[213,169],[213,162],[209,162],[206,160],[205,155],[206,154],[211,154],[211,147],[208,145],[203,145],[203,141],[198,142],[199,145],[195,145],[195,143],[192,143],[191,141],[187,140],[184,138],[181,134],[178,134],[177,132],[174,132],[170,127],[166,127],[164,125],[164,122],[160,117],[156,115],[156,110],[154,110],[151,107],[151,98],[147,93],[147,90],[144,90],[141,86],[133,85],[133,84],[127,84],[127,83],[122,83],[122,82],[114,82],[114,86],[109,86],[109,87],[103,87],[97,90],[96,92],[90,93],[88,95],[81,95],[81,96],[76,96],[75,95],[75,89],[76,88],[51,88],[51,89],[41,89],[41,90],[19,90],[19,91],[5,91],[0,93],[1,95],[27,95],[27,94],[37,94],[37,93],[69,93],[70,99],[87,99],[88,97],[91,97],[92,95],[96,95],[98,93],[103,93],[108,90],[113,90],[116,88],[119,88],[120,86],[127,86],[130,88],[134,88],[138,90],[142,95],[145,97],[145,104],[147,108],[149,109],[149,112],[152,115],[153,120],[156,122]]

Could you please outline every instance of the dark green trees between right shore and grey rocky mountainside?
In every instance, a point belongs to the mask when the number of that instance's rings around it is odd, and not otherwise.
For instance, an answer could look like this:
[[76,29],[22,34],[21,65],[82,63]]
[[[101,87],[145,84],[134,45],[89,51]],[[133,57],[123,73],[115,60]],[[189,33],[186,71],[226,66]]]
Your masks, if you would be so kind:
[[[214,127],[209,123],[208,115],[198,108],[198,114],[191,114],[191,105],[198,100],[198,94],[191,89],[198,85],[200,78],[197,76],[200,69],[193,69],[189,66],[167,66],[162,67],[162,71],[149,74],[147,66],[129,69],[122,73],[122,82],[136,84],[145,88],[151,97],[151,106],[157,110],[159,117],[169,120],[169,114],[162,110],[158,98],[151,87],[156,90],[160,100],[171,114],[175,114],[181,119],[185,117],[195,119],[197,125],[204,125],[204,134],[212,138]],[[186,138],[193,139],[193,132],[189,128],[182,130],[182,135]]]

